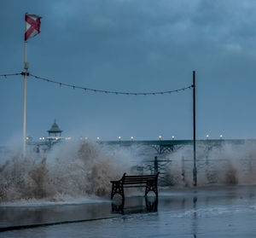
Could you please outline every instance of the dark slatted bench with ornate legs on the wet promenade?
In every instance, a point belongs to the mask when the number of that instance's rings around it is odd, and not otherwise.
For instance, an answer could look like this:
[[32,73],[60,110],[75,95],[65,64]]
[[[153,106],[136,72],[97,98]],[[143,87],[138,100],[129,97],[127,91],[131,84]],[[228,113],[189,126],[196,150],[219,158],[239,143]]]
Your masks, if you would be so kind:
[[120,180],[110,181],[112,183],[111,199],[114,194],[120,194],[125,199],[124,188],[138,188],[146,187],[145,196],[149,191],[153,191],[155,196],[158,197],[157,179],[160,172],[155,175],[134,175],[128,176],[124,173]]

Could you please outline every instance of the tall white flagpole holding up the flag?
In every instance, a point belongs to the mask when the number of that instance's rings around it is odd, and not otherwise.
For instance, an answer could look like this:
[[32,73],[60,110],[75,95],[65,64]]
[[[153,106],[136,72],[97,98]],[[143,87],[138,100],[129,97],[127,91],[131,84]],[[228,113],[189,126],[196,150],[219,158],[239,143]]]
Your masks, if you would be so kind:
[[[25,14],[26,18],[26,14]],[[26,19],[25,19],[25,32],[26,33]],[[26,46],[27,41],[24,41],[24,73],[23,73],[23,157],[26,157],[26,74],[28,69],[28,63],[26,59]]]

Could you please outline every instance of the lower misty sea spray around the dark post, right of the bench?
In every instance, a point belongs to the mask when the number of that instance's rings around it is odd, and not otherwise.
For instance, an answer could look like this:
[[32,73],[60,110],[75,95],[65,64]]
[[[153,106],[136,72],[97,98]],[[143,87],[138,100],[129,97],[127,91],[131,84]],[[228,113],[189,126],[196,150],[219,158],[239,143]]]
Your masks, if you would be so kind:
[[[193,186],[193,147],[183,146],[166,155],[172,163],[166,168],[166,181],[172,186]],[[197,184],[236,185],[256,183],[256,149],[253,142],[222,143],[210,147],[198,142],[196,148]]]

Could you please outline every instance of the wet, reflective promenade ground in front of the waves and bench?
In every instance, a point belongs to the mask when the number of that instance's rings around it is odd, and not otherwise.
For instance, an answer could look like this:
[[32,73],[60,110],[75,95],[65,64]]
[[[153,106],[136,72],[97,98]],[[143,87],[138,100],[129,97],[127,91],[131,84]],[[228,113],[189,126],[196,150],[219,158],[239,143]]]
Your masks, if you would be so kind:
[[256,186],[166,189],[160,197],[0,206],[0,237],[256,237]]

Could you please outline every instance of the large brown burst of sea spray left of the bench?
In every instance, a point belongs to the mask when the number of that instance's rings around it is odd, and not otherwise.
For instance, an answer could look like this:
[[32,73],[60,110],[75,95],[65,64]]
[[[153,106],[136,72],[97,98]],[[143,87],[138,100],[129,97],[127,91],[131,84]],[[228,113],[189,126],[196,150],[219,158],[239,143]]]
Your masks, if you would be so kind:
[[0,202],[108,196],[131,165],[129,153],[93,142],[59,144],[42,160],[14,156],[0,168]]

